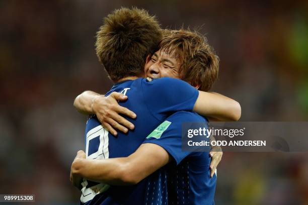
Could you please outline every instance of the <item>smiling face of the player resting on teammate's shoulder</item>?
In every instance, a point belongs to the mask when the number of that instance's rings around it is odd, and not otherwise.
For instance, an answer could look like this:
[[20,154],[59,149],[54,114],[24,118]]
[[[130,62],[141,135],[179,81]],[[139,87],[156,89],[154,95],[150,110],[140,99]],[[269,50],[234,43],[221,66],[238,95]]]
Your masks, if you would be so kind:
[[181,63],[173,54],[162,50],[154,53],[144,66],[144,74],[150,78],[173,77],[180,78]]

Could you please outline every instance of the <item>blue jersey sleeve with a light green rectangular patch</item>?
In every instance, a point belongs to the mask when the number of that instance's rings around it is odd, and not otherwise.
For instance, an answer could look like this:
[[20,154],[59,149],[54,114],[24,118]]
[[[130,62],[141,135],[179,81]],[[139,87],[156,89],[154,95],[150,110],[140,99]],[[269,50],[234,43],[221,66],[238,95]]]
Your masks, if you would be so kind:
[[185,157],[194,154],[193,151],[182,150],[182,123],[200,121],[206,122],[195,113],[177,112],[151,132],[143,143],[152,143],[163,147],[179,164]]

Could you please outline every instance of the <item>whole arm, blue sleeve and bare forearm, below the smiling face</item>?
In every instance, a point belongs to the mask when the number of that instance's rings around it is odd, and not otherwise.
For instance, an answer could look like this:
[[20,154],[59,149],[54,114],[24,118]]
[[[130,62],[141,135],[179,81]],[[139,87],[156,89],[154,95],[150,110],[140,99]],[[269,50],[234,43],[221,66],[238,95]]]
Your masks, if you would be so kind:
[[218,93],[198,91],[180,79],[167,77],[144,82],[142,91],[148,107],[156,108],[149,110],[154,115],[194,111],[216,121],[237,121],[241,116],[241,106],[236,100]]

